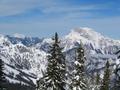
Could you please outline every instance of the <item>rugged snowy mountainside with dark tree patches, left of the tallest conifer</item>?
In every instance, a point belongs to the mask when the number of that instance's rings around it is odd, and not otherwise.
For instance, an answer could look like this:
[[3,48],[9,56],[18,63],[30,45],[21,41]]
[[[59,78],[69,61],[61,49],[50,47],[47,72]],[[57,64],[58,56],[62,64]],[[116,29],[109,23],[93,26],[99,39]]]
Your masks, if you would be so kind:
[[0,36],[0,58],[5,62],[6,78],[13,83],[26,81],[34,84],[42,75],[41,70],[45,69],[46,53],[34,46],[26,46],[18,38],[14,38],[18,40],[15,44],[9,39],[8,36]]

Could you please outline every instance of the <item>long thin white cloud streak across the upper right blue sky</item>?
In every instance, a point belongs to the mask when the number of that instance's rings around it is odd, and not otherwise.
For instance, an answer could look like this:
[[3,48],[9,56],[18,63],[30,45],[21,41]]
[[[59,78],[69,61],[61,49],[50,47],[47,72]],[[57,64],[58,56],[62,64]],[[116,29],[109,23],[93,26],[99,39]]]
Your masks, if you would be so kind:
[[109,9],[110,3],[104,3],[104,4],[87,4],[87,5],[69,5],[69,4],[63,4],[63,5],[54,5],[51,7],[47,7],[43,9],[44,13],[71,13],[71,12],[88,12],[89,10],[104,10]]

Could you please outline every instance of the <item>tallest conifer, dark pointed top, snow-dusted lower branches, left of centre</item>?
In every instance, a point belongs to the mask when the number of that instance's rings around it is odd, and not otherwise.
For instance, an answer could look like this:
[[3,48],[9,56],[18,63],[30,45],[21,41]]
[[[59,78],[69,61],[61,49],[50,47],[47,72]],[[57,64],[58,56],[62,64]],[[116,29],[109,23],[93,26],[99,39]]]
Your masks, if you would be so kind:
[[65,57],[57,33],[55,33],[50,55],[48,55],[46,74],[39,82],[38,90],[65,90]]

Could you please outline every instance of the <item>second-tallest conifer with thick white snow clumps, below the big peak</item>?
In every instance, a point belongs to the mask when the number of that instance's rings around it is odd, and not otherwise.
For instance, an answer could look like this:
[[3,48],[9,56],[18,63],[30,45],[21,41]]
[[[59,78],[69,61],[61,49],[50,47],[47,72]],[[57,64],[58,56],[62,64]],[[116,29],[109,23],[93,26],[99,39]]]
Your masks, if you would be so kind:
[[76,51],[75,69],[73,71],[72,90],[87,90],[85,75],[85,55],[82,43]]

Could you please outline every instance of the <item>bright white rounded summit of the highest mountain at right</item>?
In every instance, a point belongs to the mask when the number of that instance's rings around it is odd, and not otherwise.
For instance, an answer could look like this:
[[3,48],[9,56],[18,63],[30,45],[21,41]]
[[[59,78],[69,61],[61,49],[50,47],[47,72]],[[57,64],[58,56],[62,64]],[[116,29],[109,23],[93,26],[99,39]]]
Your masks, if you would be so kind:
[[95,32],[91,28],[83,27],[83,28],[75,28],[72,29],[71,32],[65,36],[66,42],[79,42],[80,40],[84,44],[92,44],[96,48],[104,48],[111,45],[119,45],[120,40],[114,40],[108,37],[101,35],[98,32]]

